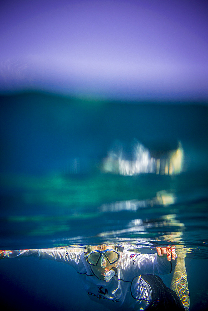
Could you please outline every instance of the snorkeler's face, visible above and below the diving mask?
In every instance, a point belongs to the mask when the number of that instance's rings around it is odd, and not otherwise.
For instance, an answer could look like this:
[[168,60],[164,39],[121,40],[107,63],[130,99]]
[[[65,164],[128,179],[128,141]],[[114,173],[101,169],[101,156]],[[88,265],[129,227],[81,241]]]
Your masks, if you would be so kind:
[[[114,250],[114,248],[112,247],[112,245],[99,245],[99,246],[91,246],[90,247],[90,252],[94,251],[94,250],[99,250],[99,251],[103,251],[106,249],[112,249]],[[100,280],[104,280],[104,276],[106,272],[108,272],[112,267],[115,266],[116,263],[110,265],[108,260],[105,258],[105,256],[101,256],[99,259],[99,262],[97,264],[97,266],[92,266],[90,265],[90,268],[92,269],[93,273],[100,279]]]

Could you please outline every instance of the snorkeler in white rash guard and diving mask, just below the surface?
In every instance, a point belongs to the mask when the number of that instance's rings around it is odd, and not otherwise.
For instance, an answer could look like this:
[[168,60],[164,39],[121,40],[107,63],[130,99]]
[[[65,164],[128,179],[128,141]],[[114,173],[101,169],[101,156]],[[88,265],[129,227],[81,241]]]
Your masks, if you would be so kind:
[[74,267],[89,298],[109,309],[189,310],[189,304],[183,305],[176,292],[155,275],[174,271],[175,247],[157,248],[154,254],[129,252],[119,245],[0,251],[0,259],[25,256]]

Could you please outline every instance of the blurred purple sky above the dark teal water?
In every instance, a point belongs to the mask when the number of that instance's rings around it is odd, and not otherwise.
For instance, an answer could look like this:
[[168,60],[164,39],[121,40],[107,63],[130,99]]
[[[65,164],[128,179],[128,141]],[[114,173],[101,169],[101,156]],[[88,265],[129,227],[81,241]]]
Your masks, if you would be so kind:
[[208,98],[206,1],[0,4],[0,91]]

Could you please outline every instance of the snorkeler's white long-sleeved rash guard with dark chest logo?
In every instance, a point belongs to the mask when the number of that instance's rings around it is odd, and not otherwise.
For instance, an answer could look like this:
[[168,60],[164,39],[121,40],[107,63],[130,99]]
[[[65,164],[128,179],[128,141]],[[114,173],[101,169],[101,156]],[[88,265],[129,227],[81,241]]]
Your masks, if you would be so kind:
[[4,251],[4,258],[34,256],[65,262],[80,276],[87,295],[106,308],[119,310],[145,310],[151,302],[150,285],[142,274],[167,274],[175,268],[177,260],[167,261],[167,256],[140,254],[124,250],[116,275],[107,283],[97,278],[84,258],[83,251],[70,248],[46,248]]

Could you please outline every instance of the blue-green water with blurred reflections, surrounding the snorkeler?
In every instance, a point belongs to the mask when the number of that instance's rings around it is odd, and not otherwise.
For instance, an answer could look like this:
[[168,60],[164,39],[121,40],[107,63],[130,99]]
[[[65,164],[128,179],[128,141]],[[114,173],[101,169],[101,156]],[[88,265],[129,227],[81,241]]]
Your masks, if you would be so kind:
[[[175,245],[190,310],[207,309],[206,103],[22,93],[2,95],[0,109],[0,249]],[[8,310],[105,309],[62,263],[1,260],[0,275]]]

